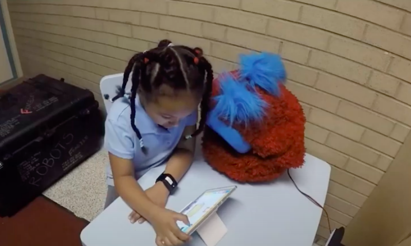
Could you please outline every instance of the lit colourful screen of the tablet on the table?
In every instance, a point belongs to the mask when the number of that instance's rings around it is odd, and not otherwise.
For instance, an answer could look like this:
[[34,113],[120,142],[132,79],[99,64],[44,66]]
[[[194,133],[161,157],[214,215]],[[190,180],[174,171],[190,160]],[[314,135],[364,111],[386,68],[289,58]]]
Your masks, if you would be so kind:
[[[213,209],[232,190],[232,187],[227,187],[224,189],[206,191],[196,200],[191,202],[189,206],[185,207],[181,213],[187,215],[191,227],[195,227],[196,223],[201,221],[204,216],[207,216],[207,212],[210,209]],[[177,221],[177,226],[182,232],[188,232],[191,228],[181,221]]]

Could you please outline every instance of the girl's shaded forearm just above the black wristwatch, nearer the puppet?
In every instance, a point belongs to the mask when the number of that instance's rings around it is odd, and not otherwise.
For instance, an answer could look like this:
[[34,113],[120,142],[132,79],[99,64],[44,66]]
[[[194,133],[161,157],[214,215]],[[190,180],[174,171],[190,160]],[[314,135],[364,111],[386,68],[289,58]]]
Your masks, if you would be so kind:
[[173,155],[167,161],[164,173],[171,174],[177,182],[184,176],[185,172],[190,168],[194,159],[196,139],[185,139],[186,135],[191,135],[196,130],[196,126],[185,127],[183,138],[180,140]]

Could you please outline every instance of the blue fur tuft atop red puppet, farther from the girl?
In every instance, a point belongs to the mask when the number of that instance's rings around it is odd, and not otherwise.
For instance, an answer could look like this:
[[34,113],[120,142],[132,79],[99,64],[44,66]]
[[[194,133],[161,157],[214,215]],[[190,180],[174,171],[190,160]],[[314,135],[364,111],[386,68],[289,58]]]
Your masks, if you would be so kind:
[[247,79],[249,84],[278,96],[278,83],[286,80],[286,70],[281,57],[271,53],[252,53],[240,55],[240,79]]

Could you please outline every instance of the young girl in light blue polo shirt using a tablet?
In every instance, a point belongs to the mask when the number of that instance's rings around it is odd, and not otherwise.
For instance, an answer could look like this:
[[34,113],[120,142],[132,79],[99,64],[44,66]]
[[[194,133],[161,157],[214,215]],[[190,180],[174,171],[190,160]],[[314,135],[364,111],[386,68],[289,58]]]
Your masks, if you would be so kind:
[[[131,97],[127,99],[125,86],[132,70]],[[180,245],[190,238],[176,224],[176,220],[189,224],[188,218],[164,207],[193,161],[192,137],[206,123],[212,80],[211,65],[200,48],[173,46],[162,40],[157,48],[130,59],[122,89],[107,116],[105,147],[110,167],[105,206],[120,195],[134,211],[129,220],[149,221],[159,246]],[[143,191],[136,179],[163,163],[164,173]]]

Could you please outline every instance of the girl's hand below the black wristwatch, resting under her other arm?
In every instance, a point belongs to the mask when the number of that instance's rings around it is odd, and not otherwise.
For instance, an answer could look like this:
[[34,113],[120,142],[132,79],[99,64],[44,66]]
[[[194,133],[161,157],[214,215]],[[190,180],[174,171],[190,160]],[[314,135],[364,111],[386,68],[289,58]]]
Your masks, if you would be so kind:
[[[156,204],[160,208],[165,208],[165,204],[167,203],[170,192],[164,186],[163,182],[157,182],[154,186],[145,190],[145,194],[148,196],[148,198],[150,198],[152,202],[154,202],[154,204]],[[135,223],[138,220],[140,224],[145,221],[145,219],[141,217],[141,215],[136,211],[130,213],[128,219],[132,223]]]

